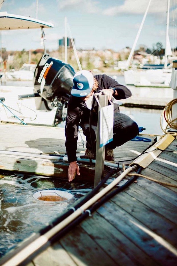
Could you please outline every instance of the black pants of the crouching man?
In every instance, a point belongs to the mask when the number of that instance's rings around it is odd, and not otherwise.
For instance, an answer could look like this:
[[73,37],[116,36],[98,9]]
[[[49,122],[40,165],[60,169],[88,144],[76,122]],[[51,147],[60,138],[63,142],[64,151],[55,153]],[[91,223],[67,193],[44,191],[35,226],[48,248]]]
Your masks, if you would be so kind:
[[[86,148],[92,150],[92,144],[96,149],[97,120],[93,119],[92,128],[89,129],[89,121],[81,121],[83,134],[86,136]],[[90,138],[91,133],[91,138]],[[122,113],[114,113],[113,141],[106,144],[106,147],[115,149],[128,140],[131,140],[139,133],[138,125],[129,116]],[[92,139],[92,142],[91,142]]]

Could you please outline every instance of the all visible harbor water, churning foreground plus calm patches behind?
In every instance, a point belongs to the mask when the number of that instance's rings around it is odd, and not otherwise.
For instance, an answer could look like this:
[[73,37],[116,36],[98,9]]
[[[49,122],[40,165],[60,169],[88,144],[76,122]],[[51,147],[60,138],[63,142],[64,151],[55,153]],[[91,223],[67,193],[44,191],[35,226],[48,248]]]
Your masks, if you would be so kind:
[[[123,76],[113,76],[113,78],[118,80],[120,84],[125,84]],[[2,85],[33,86],[33,82],[14,81],[4,82]],[[133,89],[146,91],[146,88]],[[164,90],[169,90],[169,88],[156,88],[156,90],[160,94],[165,94]],[[143,133],[162,134],[160,128],[162,110],[120,106],[120,112],[130,116],[139,127],[146,128]],[[62,121],[58,126],[64,127],[65,122]],[[0,185],[0,257],[17,247],[18,243],[32,233],[47,226],[77,199],[92,189],[90,184],[77,182],[69,184],[54,178],[14,175],[2,171],[0,172]],[[33,197],[33,194],[38,190],[53,188],[67,191],[73,195],[73,198],[68,201],[46,202]]]

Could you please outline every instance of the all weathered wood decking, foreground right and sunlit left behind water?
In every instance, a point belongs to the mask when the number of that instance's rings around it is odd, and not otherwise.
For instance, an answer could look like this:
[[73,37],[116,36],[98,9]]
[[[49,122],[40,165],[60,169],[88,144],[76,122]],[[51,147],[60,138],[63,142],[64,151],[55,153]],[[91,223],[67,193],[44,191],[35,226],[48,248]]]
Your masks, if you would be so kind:
[[[0,124],[1,150],[65,153],[64,129]],[[149,137],[148,137],[149,138]],[[150,137],[154,142],[154,137]],[[80,141],[80,140],[79,140]],[[127,142],[115,149],[118,161],[131,162],[152,142]],[[142,174],[177,184],[174,140]],[[78,148],[78,154],[84,151]],[[77,155],[78,155],[77,154]],[[177,188],[138,177],[28,266],[113,266],[177,264]]]

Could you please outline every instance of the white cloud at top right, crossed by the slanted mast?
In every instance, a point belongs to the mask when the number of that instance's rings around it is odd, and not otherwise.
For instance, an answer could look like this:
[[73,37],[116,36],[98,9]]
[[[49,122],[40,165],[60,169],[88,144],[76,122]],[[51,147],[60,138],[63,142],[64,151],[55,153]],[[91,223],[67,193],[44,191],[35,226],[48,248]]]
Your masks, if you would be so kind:
[[[123,5],[110,7],[103,11],[104,15],[115,16],[118,14],[143,14],[148,6],[149,0],[125,0]],[[152,1],[148,13],[164,13],[167,8],[167,0]]]

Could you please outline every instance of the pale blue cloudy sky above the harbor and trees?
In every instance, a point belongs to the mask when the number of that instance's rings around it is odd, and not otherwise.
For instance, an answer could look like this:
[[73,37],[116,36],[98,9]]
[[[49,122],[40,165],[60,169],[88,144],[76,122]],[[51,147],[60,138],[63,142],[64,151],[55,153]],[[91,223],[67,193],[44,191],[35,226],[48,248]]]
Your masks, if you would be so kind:
[[[2,0],[0,0],[1,2]],[[38,2],[38,5],[37,5]],[[38,18],[53,23],[44,29],[45,46],[58,49],[58,39],[65,34],[64,19],[75,39],[76,49],[113,49],[132,47],[149,0],[5,0],[1,12]],[[38,9],[36,8],[38,6]],[[146,20],[137,41],[152,48],[161,42],[165,47],[167,0],[152,0]],[[176,47],[177,0],[170,1],[169,38]],[[41,46],[40,29],[1,31],[1,47],[7,51],[38,49]]]

